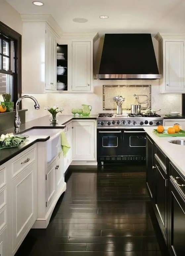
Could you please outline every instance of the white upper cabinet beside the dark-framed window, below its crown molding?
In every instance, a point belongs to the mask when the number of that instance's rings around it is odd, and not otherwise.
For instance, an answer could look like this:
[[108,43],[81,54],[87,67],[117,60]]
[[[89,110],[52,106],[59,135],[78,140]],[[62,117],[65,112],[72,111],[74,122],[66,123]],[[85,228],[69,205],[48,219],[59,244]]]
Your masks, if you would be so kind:
[[56,35],[45,22],[23,21],[23,94],[56,91]]

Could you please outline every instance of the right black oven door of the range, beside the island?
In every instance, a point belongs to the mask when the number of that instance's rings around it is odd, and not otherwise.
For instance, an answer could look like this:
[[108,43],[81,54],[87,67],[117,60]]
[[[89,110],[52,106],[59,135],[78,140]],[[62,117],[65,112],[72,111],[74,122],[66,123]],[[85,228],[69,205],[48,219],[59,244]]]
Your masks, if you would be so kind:
[[125,129],[122,153],[127,160],[146,160],[146,133],[143,129]]

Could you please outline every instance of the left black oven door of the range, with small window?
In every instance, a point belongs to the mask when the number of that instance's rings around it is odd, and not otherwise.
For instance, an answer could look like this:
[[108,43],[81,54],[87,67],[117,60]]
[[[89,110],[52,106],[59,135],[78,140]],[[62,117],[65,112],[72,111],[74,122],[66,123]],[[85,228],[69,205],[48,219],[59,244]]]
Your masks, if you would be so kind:
[[121,155],[123,129],[97,129],[97,161],[111,161]]

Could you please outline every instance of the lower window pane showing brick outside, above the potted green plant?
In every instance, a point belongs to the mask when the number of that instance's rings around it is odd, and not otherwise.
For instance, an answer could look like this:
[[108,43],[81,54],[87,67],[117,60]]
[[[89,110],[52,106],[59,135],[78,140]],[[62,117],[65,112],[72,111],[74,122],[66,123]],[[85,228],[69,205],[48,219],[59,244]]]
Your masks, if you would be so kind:
[[13,75],[0,73],[0,95],[3,93],[13,95]]

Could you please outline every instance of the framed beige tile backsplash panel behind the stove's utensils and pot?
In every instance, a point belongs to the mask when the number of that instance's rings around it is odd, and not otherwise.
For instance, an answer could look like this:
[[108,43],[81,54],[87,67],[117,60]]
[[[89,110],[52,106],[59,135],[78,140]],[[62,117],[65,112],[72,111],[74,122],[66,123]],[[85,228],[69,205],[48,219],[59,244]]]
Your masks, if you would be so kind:
[[139,102],[146,102],[147,97],[144,95],[148,96],[148,103],[141,104],[141,109],[151,107],[151,85],[103,85],[103,110],[116,110],[117,105],[113,97],[117,95],[125,98],[122,109],[130,110],[131,104],[138,104],[133,94],[143,95],[139,96]]

